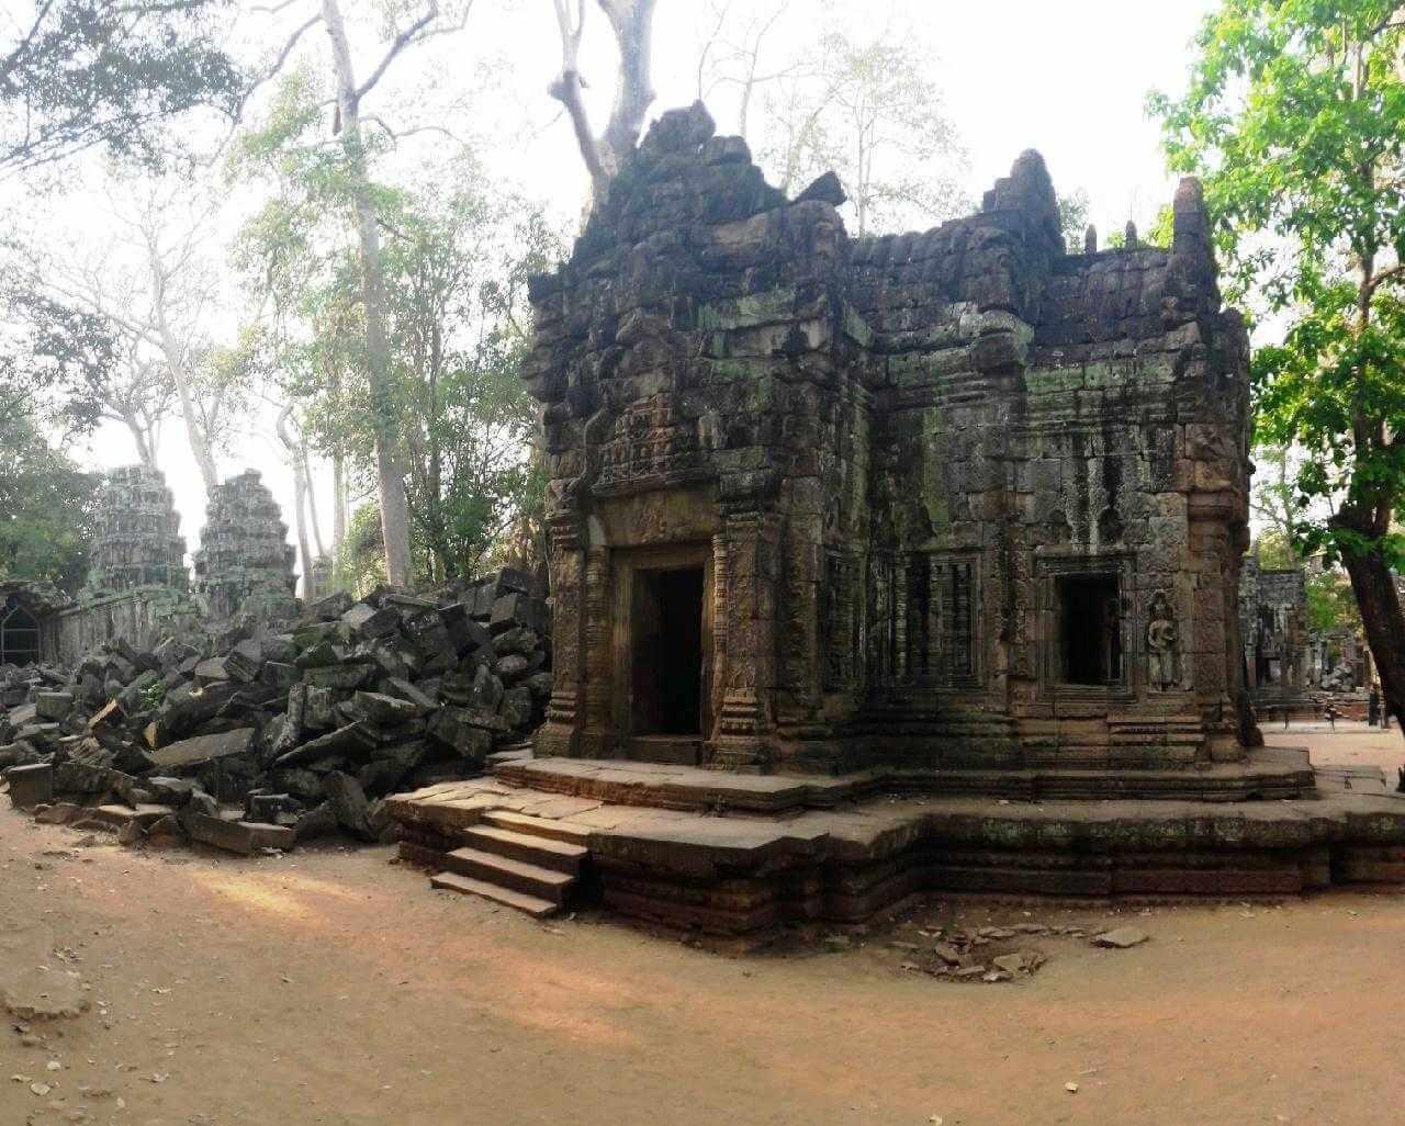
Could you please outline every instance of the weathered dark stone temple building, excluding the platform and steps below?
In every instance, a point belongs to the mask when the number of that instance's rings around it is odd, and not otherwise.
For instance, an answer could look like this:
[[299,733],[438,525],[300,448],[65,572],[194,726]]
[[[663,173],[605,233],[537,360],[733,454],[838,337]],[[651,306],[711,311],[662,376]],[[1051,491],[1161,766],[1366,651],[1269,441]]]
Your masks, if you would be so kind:
[[1044,161],[851,239],[665,115],[552,277],[540,755],[759,772],[1242,760],[1248,343],[1198,185],[1068,254]]

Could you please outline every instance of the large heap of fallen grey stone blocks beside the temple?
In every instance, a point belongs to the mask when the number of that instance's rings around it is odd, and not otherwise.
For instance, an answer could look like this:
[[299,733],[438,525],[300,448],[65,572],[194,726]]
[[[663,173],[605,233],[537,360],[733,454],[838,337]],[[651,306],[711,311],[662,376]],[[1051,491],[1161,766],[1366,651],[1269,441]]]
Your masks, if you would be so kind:
[[525,754],[551,695],[542,591],[504,570],[433,598],[336,592],[296,622],[90,653],[17,674],[11,803],[128,844],[251,854],[337,830],[389,840],[388,793]]

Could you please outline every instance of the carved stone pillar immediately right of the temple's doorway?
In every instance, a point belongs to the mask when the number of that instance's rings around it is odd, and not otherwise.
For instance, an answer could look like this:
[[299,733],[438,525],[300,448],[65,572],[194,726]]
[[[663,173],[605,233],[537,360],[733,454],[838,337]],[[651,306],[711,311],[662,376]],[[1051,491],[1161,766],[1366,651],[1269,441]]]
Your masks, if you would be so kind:
[[726,660],[712,768],[764,772],[770,767],[776,688],[776,567],[780,517],[729,512],[726,541]]

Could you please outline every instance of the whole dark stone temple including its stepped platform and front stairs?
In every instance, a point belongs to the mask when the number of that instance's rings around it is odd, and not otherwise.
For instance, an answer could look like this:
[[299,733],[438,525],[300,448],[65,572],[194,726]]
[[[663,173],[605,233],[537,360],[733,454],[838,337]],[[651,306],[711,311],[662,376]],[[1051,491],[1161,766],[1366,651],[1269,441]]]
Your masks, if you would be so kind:
[[1248,341],[1198,185],[1170,247],[1082,254],[1035,153],[923,233],[840,201],[694,105],[531,282],[547,722],[391,799],[402,856],[714,935],[1405,877],[1380,772],[1255,748]]

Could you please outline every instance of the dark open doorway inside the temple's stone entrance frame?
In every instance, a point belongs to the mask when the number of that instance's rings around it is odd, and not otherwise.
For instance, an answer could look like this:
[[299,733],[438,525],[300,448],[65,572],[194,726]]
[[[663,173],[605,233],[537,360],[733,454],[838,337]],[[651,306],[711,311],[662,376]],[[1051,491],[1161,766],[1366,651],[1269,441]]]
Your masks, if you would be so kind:
[[702,730],[702,569],[634,576],[634,733]]

